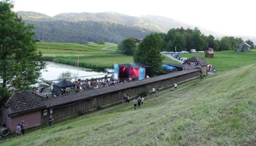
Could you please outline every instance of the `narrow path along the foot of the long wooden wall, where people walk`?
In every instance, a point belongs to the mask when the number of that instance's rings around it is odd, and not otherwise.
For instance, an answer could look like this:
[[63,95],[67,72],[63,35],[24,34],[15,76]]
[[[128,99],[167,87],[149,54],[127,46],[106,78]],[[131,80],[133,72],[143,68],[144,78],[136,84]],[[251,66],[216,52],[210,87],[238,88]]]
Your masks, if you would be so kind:
[[[195,82],[195,80],[199,80],[199,79],[194,79],[194,80],[191,80],[191,81],[189,81],[189,82]],[[189,82],[185,82],[185,84],[187,84],[187,83],[189,83]],[[179,84],[179,82],[178,82],[178,84]],[[187,87],[193,85],[193,84],[189,84],[189,85],[186,85],[186,86],[185,86],[185,84],[179,84],[177,90],[183,90],[183,88],[187,88]],[[158,99],[158,98],[161,98],[162,96],[165,96],[166,94],[173,94],[173,93],[175,93],[175,92],[176,92],[176,91],[170,91],[170,88],[168,88],[168,89],[166,89],[166,90],[162,90],[162,91],[160,91],[159,95],[154,94],[153,96],[150,95],[149,98],[144,97],[144,100],[145,100],[144,103],[150,102],[150,101],[152,101],[152,100],[156,100],[156,99]],[[131,99],[133,99],[133,97],[130,98],[130,100],[131,100]],[[121,102],[121,101],[120,101],[120,102]],[[130,106],[125,107],[125,109],[127,109],[127,108],[133,108],[132,100],[131,100],[130,102],[131,102],[131,104],[129,104]],[[121,103],[121,104],[117,104],[117,105],[115,105],[115,106],[110,106],[110,107],[104,108],[104,109],[102,109],[102,110],[100,110],[100,111],[96,111],[96,112],[93,112],[93,113],[89,113],[89,114],[86,114],[86,115],[82,115],[82,116],[78,117],[77,119],[82,119],[82,118],[84,118],[84,117],[90,117],[90,116],[93,116],[93,115],[98,115],[98,114],[100,114],[100,113],[104,113],[104,112],[106,112],[106,111],[110,111],[110,110],[113,110],[113,109],[115,109],[115,108],[118,108],[118,107],[124,106],[124,105],[127,105],[127,104],[122,104],[122,103]]]

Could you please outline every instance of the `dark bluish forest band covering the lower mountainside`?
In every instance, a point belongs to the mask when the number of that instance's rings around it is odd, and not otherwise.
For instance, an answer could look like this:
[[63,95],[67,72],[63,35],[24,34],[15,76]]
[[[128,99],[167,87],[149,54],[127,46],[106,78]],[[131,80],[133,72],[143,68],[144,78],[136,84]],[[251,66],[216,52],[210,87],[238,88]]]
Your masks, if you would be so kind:
[[27,21],[36,25],[35,38],[44,42],[87,44],[87,42],[112,42],[119,44],[123,38],[144,38],[150,33],[141,27],[124,26],[96,21]]

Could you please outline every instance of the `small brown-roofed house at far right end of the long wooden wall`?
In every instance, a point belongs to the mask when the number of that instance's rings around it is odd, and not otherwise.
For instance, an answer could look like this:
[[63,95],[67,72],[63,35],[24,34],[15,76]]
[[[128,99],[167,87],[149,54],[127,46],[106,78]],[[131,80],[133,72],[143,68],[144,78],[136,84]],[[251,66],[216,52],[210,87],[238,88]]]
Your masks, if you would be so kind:
[[190,70],[192,68],[200,68],[203,76],[207,75],[207,65],[208,63],[200,58],[199,56],[193,56],[189,60],[185,60],[184,68],[185,70]]

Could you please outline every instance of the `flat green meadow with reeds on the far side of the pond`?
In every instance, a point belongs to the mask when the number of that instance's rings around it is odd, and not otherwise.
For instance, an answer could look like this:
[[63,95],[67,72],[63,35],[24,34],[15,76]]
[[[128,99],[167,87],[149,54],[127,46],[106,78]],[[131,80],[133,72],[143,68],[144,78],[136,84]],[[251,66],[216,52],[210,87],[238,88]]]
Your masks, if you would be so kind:
[[[104,68],[113,68],[113,64],[132,63],[132,56],[125,56],[117,52],[115,44],[63,44],[63,43],[37,43],[38,51],[42,52],[44,60],[49,60],[61,64],[77,66],[79,56],[79,66],[104,70]],[[102,50],[102,48],[107,50]],[[49,48],[49,49],[47,49]],[[65,50],[66,49],[66,50]],[[165,57],[164,62],[178,63]]]

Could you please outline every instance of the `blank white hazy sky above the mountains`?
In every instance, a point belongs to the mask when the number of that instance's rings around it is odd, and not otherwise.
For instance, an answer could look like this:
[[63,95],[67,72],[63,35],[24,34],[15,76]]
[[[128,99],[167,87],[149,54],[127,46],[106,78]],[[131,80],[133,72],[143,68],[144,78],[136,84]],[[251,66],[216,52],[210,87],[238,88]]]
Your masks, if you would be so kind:
[[[13,0],[14,11],[59,13],[115,11],[160,15],[224,35],[256,37],[254,0]],[[193,29],[193,28],[192,28]]]

